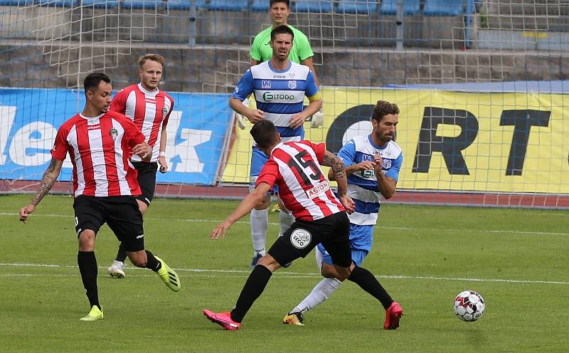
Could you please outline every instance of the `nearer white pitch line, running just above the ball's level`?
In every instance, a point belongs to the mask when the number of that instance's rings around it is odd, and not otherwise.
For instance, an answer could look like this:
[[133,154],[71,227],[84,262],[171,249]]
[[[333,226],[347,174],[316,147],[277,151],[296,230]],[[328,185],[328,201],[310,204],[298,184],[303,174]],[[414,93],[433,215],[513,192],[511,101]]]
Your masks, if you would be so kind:
[[[75,265],[57,265],[48,263],[0,263],[0,266],[5,267],[38,267],[38,268],[77,268]],[[106,269],[104,267],[99,267],[100,269]],[[129,270],[146,270],[145,268],[132,267]],[[180,272],[190,272],[190,273],[239,273],[248,274],[250,270],[208,270],[203,268],[174,268],[176,271]],[[6,274],[14,275],[18,274]],[[3,275],[3,276],[6,276]],[[26,274],[23,274],[26,275]],[[29,275],[29,274],[28,274]],[[299,273],[299,272],[280,272],[275,273],[277,277],[288,277],[288,278],[318,278],[320,275],[318,273]],[[402,279],[402,280],[453,280],[453,281],[467,281],[467,282],[495,282],[495,283],[527,283],[527,284],[548,284],[548,285],[569,285],[569,282],[560,280],[509,280],[503,278],[461,278],[461,277],[437,277],[437,276],[411,276],[411,275],[376,275],[377,278],[389,278],[389,279]]]

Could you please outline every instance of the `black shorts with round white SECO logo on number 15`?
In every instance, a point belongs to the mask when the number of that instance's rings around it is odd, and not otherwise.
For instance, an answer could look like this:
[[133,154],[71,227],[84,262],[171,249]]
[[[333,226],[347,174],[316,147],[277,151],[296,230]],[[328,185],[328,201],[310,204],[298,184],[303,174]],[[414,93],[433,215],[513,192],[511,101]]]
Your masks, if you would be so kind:
[[268,253],[282,265],[306,257],[319,243],[330,254],[332,263],[351,265],[350,221],[345,211],[317,221],[294,221]]

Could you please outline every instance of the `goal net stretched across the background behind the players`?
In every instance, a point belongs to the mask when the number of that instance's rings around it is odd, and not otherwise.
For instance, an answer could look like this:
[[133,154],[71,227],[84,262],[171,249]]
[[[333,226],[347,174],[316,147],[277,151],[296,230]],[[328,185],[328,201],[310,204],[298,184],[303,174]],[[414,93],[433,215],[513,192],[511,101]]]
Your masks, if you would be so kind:
[[[0,191],[34,189],[57,128],[94,71],[115,90],[137,59],[166,58],[175,100],[170,172],[157,193],[242,197],[250,124],[228,107],[271,25],[263,0],[0,0]],[[332,152],[371,132],[377,100],[400,107],[393,200],[569,208],[568,0],[292,1],[324,100],[307,139]],[[68,192],[70,164],[60,191]]]

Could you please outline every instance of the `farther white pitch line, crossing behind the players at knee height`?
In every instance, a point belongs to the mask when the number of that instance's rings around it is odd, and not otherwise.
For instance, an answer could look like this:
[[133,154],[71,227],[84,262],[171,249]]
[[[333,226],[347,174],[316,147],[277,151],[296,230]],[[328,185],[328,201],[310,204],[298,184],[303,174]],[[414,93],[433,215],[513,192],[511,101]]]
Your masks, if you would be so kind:
[[[15,213],[0,212],[0,216],[18,216]],[[63,217],[73,220],[73,216],[70,214],[33,214],[31,217]],[[191,223],[219,223],[223,220],[221,219],[196,219],[196,218],[157,218],[148,217],[144,218],[146,221],[175,221],[175,222],[191,222]],[[238,224],[248,224],[248,221],[237,221]],[[278,226],[279,223],[270,222],[271,226]],[[558,232],[536,232],[536,231],[501,231],[497,229],[479,230],[479,229],[454,229],[454,228],[413,228],[413,227],[389,227],[389,226],[374,226],[373,228],[378,229],[388,229],[395,231],[444,231],[452,233],[507,233],[507,234],[528,234],[533,236],[569,236],[569,233],[558,233]]]

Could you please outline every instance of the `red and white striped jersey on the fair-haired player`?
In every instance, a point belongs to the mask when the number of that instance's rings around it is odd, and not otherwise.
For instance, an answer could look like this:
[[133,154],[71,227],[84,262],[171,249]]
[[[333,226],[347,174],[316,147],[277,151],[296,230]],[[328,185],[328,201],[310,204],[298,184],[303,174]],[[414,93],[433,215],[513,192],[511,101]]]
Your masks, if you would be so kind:
[[[151,162],[158,160],[162,126],[168,124],[174,109],[174,99],[161,90],[150,92],[139,83],[129,85],[112,99],[110,110],[126,115],[137,125],[144,135],[144,141],[152,147]],[[132,160],[140,162],[140,157],[132,155]]]

